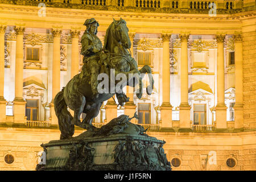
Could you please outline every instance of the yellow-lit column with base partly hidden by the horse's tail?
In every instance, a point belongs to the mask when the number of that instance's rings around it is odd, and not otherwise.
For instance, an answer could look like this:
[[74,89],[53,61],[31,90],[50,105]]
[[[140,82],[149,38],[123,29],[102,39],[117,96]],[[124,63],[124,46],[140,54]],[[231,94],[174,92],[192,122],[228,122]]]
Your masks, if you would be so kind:
[[52,102],[51,102],[51,125],[58,125],[58,119],[54,110],[54,98],[60,92],[60,35],[61,30],[52,29],[53,57],[52,57]]

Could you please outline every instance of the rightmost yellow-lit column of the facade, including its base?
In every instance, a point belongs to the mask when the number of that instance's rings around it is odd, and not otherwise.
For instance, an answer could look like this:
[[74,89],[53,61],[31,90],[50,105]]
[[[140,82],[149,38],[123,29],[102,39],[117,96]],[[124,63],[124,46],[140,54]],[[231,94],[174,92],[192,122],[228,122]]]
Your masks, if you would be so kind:
[[235,40],[235,88],[236,103],[234,105],[234,127],[243,127],[243,47],[242,35],[234,35]]

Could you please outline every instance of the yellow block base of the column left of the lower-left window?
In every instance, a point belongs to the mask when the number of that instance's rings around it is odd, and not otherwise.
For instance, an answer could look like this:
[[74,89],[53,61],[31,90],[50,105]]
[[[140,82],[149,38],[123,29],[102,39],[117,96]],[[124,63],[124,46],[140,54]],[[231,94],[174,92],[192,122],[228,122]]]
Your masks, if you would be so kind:
[[26,123],[26,102],[15,99],[13,101],[14,124],[25,125]]

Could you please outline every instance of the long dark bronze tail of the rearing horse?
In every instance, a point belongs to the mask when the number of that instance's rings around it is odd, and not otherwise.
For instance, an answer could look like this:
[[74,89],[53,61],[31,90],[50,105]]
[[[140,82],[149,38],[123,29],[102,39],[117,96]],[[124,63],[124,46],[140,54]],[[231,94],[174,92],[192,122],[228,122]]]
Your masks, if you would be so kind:
[[54,109],[58,118],[61,132],[60,139],[72,137],[75,133],[75,127],[71,124],[73,117],[68,111],[67,104],[63,95],[64,88],[59,93],[57,93],[54,98]]

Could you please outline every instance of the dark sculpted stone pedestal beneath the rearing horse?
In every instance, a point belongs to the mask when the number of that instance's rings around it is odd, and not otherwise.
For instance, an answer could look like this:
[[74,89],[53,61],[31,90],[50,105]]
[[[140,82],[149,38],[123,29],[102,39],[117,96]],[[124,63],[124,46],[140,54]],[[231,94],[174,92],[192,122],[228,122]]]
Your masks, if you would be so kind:
[[97,131],[42,144],[46,164],[37,170],[170,171],[162,140],[149,137],[140,125],[121,115]]

